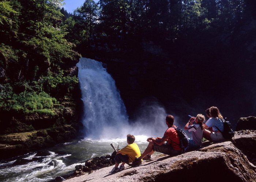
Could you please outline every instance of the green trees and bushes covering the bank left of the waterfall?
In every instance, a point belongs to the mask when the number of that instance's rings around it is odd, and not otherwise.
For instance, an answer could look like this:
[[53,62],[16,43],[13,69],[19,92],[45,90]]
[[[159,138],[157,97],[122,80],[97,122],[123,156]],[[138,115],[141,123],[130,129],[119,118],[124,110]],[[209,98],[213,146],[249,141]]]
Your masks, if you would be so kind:
[[55,98],[78,83],[65,71],[79,55],[65,39],[69,14],[62,6],[63,0],[0,0],[0,111],[52,114]]

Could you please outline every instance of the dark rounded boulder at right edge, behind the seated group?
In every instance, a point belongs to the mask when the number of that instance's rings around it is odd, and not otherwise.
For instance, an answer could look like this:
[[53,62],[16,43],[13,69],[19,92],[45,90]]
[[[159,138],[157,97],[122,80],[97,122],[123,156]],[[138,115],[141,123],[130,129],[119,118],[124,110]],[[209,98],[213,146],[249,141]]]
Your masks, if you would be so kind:
[[236,131],[240,130],[256,130],[256,117],[240,118],[237,122]]

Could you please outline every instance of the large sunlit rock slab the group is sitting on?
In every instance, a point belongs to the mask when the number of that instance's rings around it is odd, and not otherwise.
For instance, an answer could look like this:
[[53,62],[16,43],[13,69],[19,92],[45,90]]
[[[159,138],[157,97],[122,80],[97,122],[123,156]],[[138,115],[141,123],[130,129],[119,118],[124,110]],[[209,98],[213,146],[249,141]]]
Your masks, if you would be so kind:
[[[200,182],[227,180],[253,182],[256,181],[255,144],[255,131],[241,131],[236,132],[233,143],[229,141],[204,142],[198,151],[191,151],[176,157],[163,154],[153,155],[151,161],[143,161],[142,165],[137,167],[126,165],[126,169],[119,173],[108,174],[108,171],[113,168],[111,166],[66,181]],[[248,158],[242,151],[248,151],[252,156]]]

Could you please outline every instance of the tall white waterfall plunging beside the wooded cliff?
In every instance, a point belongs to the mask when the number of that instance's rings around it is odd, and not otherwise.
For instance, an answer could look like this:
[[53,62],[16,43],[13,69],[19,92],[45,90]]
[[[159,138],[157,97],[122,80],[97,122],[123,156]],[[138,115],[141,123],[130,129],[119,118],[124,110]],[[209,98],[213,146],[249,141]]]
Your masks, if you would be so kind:
[[78,78],[84,104],[83,124],[90,138],[117,138],[128,116],[115,81],[101,62],[80,58]]

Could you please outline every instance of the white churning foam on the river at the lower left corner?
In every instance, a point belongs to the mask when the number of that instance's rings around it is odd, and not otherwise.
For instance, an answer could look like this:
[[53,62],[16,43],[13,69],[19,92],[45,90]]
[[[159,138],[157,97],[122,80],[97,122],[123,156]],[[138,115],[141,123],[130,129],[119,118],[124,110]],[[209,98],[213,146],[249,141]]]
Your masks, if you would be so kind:
[[[75,166],[78,164],[73,164],[66,166],[63,162],[71,154],[57,155],[50,151],[51,155],[48,155],[42,162],[29,162],[23,165],[12,165],[15,161],[10,161],[1,165],[0,176],[4,178],[4,181],[49,181],[57,176],[65,175],[68,172],[72,172]],[[37,158],[35,154],[32,154],[23,159]],[[81,163],[79,163],[81,164]],[[18,171],[18,173],[17,173]],[[54,178],[53,178],[54,177]],[[1,181],[1,179],[0,179]]]

